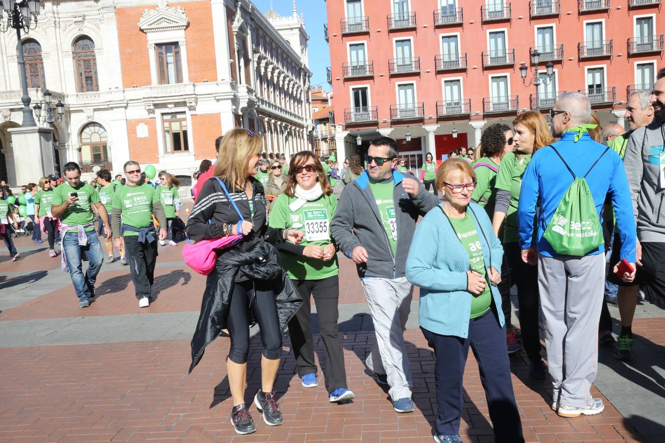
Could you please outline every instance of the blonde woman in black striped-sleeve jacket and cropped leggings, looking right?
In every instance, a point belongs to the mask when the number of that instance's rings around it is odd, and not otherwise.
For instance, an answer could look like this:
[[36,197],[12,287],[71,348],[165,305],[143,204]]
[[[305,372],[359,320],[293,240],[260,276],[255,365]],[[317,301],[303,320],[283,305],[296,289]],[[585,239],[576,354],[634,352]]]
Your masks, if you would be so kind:
[[190,366],[191,372],[203,357],[205,346],[221,329],[229,330],[231,422],[238,434],[256,430],[245,405],[249,325],[252,319],[257,321],[263,345],[261,387],[254,403],[263,414],[263,421],[277,426],[282,424],[282,414],[273,386],[281,358],[282,333],[302,304],[302,298],[279,266],[279,254],[272,244],[287,240],[299,244],[303,232],[265,224],[263,185],[253,177],[262,147],[261,137],[249,130],[236,128],[227,132],[219,147],[213,177],[203,183],[187,222],[187,234],[197,242],[242,235],[233,246],[217,250],[217,262],[207,276],[201,314],[192,338]]

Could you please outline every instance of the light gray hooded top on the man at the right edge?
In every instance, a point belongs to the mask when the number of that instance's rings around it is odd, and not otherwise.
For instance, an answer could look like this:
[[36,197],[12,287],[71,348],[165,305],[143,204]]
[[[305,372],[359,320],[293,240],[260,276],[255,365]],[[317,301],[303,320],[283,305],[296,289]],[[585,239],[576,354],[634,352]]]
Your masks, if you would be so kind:
[[665,242],[665,183],[660,179],[660,152],[665,126],[654,120],[630,135],[624,167],[640,242]]

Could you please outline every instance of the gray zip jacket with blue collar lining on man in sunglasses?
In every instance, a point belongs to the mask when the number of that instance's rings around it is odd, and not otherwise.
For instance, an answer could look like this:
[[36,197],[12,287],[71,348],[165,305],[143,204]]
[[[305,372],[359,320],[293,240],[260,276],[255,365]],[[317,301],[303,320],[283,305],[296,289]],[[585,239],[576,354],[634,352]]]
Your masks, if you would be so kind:
[[397,247],[394,256],[378,206],[369,188],[366,172],[344,187],[337,211],[332,217],[332,237],[344,255],[350,258],[356,246],[363,246],[367,250],[367,262],[357,265],[360,278],[404,277],[406,256],[416,230],[416,221],[420,215],[425,215],[439,204],[439,199],[428,193],[423,185],[420,185],[418,195],[411,197],[404,192],[402,186],[404,174],[394,171],[392,176],[397,221]]

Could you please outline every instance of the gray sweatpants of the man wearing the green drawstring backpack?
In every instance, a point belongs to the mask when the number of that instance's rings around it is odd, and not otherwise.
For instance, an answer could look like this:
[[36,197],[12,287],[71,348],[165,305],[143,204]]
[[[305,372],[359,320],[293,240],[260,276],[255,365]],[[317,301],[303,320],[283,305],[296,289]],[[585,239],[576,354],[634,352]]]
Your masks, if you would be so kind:
[[604,254],[538,258],[547,365],[559,404],[583,408],[591,402],[604,282]]

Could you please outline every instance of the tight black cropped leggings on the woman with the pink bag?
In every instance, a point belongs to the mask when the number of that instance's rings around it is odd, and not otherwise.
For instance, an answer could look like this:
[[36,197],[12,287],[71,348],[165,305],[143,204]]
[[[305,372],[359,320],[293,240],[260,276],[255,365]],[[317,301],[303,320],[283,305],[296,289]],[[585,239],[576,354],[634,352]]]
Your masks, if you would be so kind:
[[[263,282],[261,282],[263,283]],[[236,282],[231,294],[227,327],[231,335],[229,359],[238,365],[247,363],[249,355],[249,295],[252,282]],[[254,319],[259,323],[263,357],[277,360],[282,355],[282,332],[279,330],[275,291],[267,284],[256,283],[256,296],[251,306]]]

